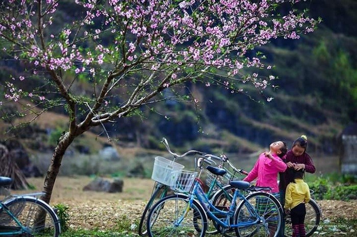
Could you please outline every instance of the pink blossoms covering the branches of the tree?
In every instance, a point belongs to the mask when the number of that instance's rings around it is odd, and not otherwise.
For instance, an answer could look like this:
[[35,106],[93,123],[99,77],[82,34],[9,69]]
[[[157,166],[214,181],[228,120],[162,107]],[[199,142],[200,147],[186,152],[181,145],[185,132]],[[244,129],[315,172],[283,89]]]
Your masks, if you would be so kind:
[[[173,81],[185,83],[198,77],[222,80],[223,87],[231,92],[243,92],[240,83],[261,91],[271,86],[269,81],[275,77],[259,76],[254,71],[249,75],[244,69],[270,70],[272,66],[265,65],[263,54],[250,58],[247,55],[275,38],[299,39],[300,35],[314,31],[319,23],[304,12],[277,14],[274,10],[274,6],[284,3],[294,6],[298,0],[102,2],[74,0],[76,9],[83,11],[78,12],[78,19],[62,24],[57,11],[66,7],[63,1],[42,1],[43,9],[37,9],[38,1],[3,1],[0,38],[7,45],[3,50],[15,60],[29,62],[26,69],[33,71],[33,75],[20,76],[20,81],[31,80],[34,75],[55,81],[70,77],[73,72],[88,73],[97,83],[94,90],[112,90],[103,91],[102,96],[116,92],[117,88],[121,91],[130,82],[130,86],[140,85],[137,98],[150,94],[145,91],[150,88],[168,88]],[[37,10],[44,14],[41,19]],[[59,24],[53,27],[53,22]],[[110,86],[100,88],[103,85]],[[209,82],[205,85],[211,86]],[[68,85],[66,90],[76,86]],[[6,90],[10,100],[26,94],[11,84]],[[80,91],[71,93],[77,96]],[[97,91],[93,94],[98,95]]]

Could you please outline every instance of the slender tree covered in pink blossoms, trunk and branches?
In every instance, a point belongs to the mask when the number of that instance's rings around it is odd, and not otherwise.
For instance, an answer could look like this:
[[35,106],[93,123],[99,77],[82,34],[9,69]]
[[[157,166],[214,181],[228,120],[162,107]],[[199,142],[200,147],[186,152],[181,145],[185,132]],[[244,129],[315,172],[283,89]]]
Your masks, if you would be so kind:
[[[7,0],[0,3],[3,55],[23,67],[1,99],[65,108],[68,129],[54,149],[42,199],[49,202],[62,157],[75,138],[172,95],[186,82],[232,93],[274,86],[272,65],[252,50],[272,39],[299,39],[319,19],[294,10],[299,0]],[[291,5],[288,12],[279,11]],[[63,11],[68,10],[68,15]],[[286,9],[286,8],[285,8]],[[62,12],[62,13],[61,13]],[[251,73],[244,73],[245,68]],[[43,82],[45,90],[22,88]],[[91,96],[74,90],[90,83]],[[272,98],[267,98],[271,100]],[[197,99],[194,102],[198,102]],[[32,121],[32,120],[31,120]],[[103,126],[104,128],[104,126]]]

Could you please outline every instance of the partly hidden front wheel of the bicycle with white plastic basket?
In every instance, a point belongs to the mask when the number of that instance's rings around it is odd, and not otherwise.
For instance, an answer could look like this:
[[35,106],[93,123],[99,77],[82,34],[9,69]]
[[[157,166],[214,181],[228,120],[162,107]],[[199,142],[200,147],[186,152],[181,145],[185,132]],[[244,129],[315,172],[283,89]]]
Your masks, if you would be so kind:
[[141,236],[147,235],[147,229],[146,229],[146,221],[147,221],[147,216],[150,212],[151,207],[160,199],[166,197],[168,191],[168,186],[163,185],[161,183],[157,183],[155,187],[154,193],[152,193],[149,201],[147,202],[143,214],[141,215],[140,223],[139,223],[139,228],[138,228],[138,234]]

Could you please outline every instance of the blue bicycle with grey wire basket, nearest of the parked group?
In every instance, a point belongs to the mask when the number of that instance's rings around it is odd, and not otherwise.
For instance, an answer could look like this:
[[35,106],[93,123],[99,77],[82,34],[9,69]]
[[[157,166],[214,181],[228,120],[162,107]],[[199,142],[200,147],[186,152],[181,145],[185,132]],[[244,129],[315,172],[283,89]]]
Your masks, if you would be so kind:
[[[205,159],[200,157],[200,159]],[[208,166],[214,175],[223,176],[225,169]],[[175,171],[179,173],[171,189],[176,194],[167,196],[152,206],[146,228],[151,236],[204,236],[208,216],[214,220],[215,227],[224,233],[235,230],[237,236],[251,236],[264,232],[277,236],[283,221],[283,210],[276,198],[266,192],[254,192],[245,197],[241,191],[248,190],[245,181],[231,181],[235,192],[230,207],[215,207],[202,189],[198,172]],[[188,192],[185,194],[185,192]],[[239,198],[239,202],[237,202]],[[238,203],[238,205],[236,205]],[[208,215],[208,216],[207,216]],[[233,222],[233,223],[231,223]],[[253,228],[249,228],[253,227]],[[268,236],[268,235],[263,236]]]

